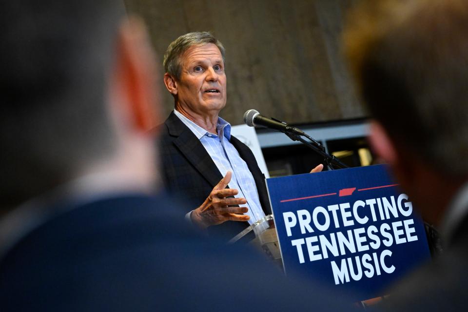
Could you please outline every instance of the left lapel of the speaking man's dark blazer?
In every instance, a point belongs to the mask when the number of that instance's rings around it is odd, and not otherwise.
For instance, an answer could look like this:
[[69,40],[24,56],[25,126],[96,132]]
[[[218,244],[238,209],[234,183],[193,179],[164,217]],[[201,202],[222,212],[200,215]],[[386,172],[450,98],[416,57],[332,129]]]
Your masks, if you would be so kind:
[[192,131],[174,114],[166,120],[166,126],[171,136],[177,137],[174,144],[187,157],[189,162],[208,182],[215,187],[223,178],[213,159]]

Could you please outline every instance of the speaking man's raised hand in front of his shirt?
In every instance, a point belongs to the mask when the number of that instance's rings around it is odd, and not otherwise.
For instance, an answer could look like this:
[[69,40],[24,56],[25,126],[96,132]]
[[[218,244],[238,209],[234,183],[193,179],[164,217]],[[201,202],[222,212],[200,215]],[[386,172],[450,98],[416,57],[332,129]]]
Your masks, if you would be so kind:
[[226,189],[231,181],[231,175],[231,172],[228,171],[203,204],[190,215],[192,221],[201,228],[205,229],[229,220],[247,221],[250,219],[250,216],[242,215],[249,210],[247,207],[235,207],[247,203],[245,198],[226,198],[239,193],[235,189]]

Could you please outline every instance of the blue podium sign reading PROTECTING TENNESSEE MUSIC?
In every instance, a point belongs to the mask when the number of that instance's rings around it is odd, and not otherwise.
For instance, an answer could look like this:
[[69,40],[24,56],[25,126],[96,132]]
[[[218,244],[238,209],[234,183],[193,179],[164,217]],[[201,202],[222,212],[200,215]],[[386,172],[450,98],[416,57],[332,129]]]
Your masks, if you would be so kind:
[[430,257],[424,223],[385,165],[267,179],[285,273],[356,300]]

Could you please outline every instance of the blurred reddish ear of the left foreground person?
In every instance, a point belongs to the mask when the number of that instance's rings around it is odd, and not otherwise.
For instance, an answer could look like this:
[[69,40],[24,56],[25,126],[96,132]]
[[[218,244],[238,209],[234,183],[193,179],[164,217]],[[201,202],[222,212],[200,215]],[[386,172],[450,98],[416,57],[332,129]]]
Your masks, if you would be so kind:
[[130,18],[118,32],[110,92],[112,105],[120,105],[118,109],[124,114],[121,117],[137,132],[146,133],[159,123],[157,80],[146,29],[140,20]]

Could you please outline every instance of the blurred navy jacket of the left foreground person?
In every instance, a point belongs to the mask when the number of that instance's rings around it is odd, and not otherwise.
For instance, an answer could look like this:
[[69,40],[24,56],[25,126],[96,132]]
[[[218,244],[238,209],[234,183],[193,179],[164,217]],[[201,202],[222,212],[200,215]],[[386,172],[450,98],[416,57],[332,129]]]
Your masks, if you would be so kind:
[[344,311],[242,246],[200,237],[176,201],[127,195],[61,213],[0,262],[0,311]]

